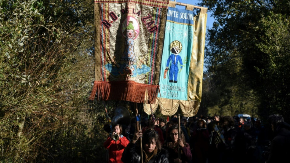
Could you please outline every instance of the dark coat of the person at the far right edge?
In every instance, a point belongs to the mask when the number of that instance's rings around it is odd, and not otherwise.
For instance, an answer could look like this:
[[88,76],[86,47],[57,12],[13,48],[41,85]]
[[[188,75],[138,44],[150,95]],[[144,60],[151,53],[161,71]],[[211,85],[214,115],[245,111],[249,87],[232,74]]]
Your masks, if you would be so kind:
[[267,163],[289,162],[290,124],[286,122],[278,123],[274,135]]

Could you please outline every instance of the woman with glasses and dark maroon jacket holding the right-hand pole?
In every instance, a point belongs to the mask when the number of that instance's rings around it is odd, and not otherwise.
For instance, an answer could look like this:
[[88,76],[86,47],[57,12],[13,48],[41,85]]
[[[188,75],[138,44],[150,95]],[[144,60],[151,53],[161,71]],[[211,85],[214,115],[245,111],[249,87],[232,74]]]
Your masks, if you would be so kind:
[[[164,146],[169,153],[169,163],[190,163],[192,159],[190,146],[185,142],[182,130],[180,130],[180,138],[178,131],[178,125],[173,125],[169,129],[169,138]],[[180,148],[180,159],[178,158],[178,148]]]

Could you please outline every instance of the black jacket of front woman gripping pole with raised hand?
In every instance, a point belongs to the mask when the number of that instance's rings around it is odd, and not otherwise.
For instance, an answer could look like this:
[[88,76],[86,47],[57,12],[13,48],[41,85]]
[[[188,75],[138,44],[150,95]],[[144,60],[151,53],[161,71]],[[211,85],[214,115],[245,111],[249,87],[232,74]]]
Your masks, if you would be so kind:
[[[129,143],[123,154],[121,160],[124,163],[140,163],[140,147],[136,145],[136,143]],[[144,154],[143,154],[144,159]],[[168,161],[168,153],[165,149],[161,148],[160,151],[157,152],[156,156],[153,156],[148,163],[169,163]]]

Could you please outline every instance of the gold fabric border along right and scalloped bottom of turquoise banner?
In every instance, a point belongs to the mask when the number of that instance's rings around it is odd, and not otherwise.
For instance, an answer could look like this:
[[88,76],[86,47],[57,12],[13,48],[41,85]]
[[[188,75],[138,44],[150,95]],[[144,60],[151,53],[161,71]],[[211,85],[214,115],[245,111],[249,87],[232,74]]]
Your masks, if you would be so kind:
[[154,104],[146,104],[148,97],[145,96],[144,111],[147,114],[155,113],[159,108],[163,115],[174,115],[178,109],[185,117],[197,114],[201,103],[202,75],[204,63],[205,31],[207,8],[202,7],[201,12],[194,17],[194,43],[190,62],[188,77],[188,100],[172,100],[168,98],[157,98]]

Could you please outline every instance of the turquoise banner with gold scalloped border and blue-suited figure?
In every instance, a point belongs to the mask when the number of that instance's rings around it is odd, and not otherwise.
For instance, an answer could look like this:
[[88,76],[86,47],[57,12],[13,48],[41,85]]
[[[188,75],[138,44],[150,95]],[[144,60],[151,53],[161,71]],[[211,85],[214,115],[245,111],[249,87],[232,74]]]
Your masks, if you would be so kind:
[[[190,8],[190,7],[187,7]],[[193,7],[191,8],[191,10]],[[163,54],[161,58],[160,94],[155,104],[163,115],[173,115],[180,107],[185,117],[194,116],[201,102],[207,8],[200,13],[169,7]],[[149,100],[149,99],[148,99]],[[149,104],[144,104],[147,114]]]

